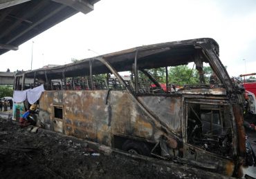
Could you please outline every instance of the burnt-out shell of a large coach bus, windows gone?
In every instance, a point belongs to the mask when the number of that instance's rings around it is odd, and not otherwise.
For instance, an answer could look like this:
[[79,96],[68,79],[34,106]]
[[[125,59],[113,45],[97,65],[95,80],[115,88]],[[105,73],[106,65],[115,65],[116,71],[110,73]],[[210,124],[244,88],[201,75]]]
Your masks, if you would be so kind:
[[[174,68],[185,65],[187,83],[172,83]],[[46,129],[226,176],[244,163],[241,93],[213,39],[143,45],[15,76],[17,91],[39,85],[37,124]],[[15,107],[22,114],[22,104]]]

